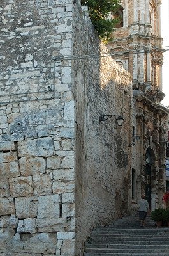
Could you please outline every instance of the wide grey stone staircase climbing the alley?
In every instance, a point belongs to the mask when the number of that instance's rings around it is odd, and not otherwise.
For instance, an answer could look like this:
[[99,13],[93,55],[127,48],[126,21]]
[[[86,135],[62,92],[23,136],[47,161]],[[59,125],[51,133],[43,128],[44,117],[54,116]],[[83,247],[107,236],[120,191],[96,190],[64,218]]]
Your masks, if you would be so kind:
[[97,227],[85,246],[84,256],[169,256],[169,227],[156,227],[147,215],[142,227],[138,214],[107,227]]

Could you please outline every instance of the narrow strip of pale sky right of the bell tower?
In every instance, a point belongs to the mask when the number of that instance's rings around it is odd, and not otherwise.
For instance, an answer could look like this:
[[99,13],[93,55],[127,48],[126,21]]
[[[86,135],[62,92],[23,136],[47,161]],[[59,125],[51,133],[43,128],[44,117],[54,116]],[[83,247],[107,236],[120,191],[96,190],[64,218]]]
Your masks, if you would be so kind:
[[161,101],[164,106],[169,106],[169,1],[162,0],[161,4],[161,36],[163,38],[163,47],[168,49],[163,54],[163,93],[165,98]]

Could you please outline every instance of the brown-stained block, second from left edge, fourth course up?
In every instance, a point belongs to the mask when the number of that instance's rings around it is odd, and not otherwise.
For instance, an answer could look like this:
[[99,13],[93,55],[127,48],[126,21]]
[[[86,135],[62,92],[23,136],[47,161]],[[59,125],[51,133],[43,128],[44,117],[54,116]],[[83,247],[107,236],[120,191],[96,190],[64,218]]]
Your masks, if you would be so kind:
[[32,196],[33,180],[32,177],[18,177],[9,179],[10,193],[13,197]]

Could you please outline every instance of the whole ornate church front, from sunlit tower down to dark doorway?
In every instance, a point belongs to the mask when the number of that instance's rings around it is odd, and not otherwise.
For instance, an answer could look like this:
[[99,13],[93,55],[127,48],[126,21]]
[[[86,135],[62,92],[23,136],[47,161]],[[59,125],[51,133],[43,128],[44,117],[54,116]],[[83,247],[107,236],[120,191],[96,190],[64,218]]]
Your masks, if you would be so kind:
[[[163,52],[160,27],[161,1],[121,1],[121,19],[108,44],[112,58],[133,80],[133,202],[145,193],[151,209],[161,207],[166,189],[168,109],[160,102]],[[114,13],[112,13],[112,16]]]

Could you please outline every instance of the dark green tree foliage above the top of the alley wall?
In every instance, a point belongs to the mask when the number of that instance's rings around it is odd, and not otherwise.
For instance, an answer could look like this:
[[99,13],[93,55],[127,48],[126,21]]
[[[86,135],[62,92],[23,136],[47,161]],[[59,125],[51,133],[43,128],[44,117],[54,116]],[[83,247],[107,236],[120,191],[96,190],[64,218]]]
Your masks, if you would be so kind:
[[112,40],[111,34],[119,19],[108,19],[110,12],[116,12],[121,0],[81,0],[82,5],[89,7],[89,15],[103,41]]

